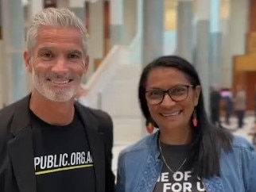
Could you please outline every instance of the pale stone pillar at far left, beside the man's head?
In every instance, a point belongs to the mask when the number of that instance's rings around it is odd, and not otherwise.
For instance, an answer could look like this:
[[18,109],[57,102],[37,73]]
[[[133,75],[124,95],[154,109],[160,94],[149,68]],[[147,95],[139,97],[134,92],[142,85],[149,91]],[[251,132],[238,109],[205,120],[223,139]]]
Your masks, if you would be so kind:
[[21,0],[2,0],[2,21],[5,47],[4,102],[8,105],[27,94],[23,62],[25,21]]

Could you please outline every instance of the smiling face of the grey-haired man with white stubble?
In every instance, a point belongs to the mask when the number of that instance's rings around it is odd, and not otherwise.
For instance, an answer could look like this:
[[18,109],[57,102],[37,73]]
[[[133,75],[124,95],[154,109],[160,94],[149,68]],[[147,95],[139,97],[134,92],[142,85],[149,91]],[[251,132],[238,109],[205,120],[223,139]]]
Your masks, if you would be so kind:
[[33,52],[25,52],[34,91],[54,102],[68,102],[78,90],[88,58],[76,29],[44,26],[38,29]]

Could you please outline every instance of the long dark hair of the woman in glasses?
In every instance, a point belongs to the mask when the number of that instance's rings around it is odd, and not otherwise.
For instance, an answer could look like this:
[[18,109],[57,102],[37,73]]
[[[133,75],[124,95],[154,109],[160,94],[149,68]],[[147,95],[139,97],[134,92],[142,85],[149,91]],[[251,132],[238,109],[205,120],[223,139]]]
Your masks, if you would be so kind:
[[[180,56],[161,56],[149,63],[142,71],[138,87],[138,98],[142,113],[146,120],[153,121],[145,100],[145,85],[149,72],[159,67],[174,67],[184,73],[192,85],[201,86],[196,69]],[[232,136],[225,129],[212,125],[204,108],[204,97],[201,91],[196,106],[198,125],[193,129],[191,151],[188,156],[188,166],[200,178],[220,175],[220,156],[222,150],[231,150]],[[155,122],[152,122],[158,128]]]

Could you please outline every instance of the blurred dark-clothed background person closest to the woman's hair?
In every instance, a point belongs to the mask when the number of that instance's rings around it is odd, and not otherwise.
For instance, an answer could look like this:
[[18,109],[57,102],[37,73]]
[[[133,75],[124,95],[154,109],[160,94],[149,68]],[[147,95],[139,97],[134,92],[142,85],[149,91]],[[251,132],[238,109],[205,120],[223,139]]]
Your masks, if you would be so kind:
[[216,85],[211,86],[211,94],[210,94],[210,108],[211,108],[211,121],[214,125],[219,127],[223,127],[220,123],[220,99],[221,95],[219,93],[219,87]]

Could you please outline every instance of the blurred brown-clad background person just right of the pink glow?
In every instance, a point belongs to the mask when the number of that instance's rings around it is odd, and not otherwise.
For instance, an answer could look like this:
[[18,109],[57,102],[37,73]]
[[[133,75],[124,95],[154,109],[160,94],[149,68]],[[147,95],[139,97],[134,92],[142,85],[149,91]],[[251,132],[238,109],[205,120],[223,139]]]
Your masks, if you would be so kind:
[[246,91],[241,85],[236,86],[234,108],[238,120],[238,128],[244,125],[244,117],[246,113]]

